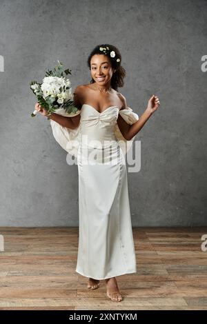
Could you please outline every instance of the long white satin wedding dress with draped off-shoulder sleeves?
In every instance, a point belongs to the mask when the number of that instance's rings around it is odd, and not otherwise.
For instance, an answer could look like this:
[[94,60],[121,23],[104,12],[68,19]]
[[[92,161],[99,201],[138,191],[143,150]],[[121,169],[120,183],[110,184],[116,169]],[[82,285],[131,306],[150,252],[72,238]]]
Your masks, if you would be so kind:
[[[64,110],[57,113],[72,117]],[[79,172],[79,249],[76,272],[108,279],[137,272],[132,236],[125,154],[126,141],[117,118],[132,125],[139,116],[117,106],[98,112],[84,103],[79,126],[72,130],[50,119],[56,141],[77,158]]]

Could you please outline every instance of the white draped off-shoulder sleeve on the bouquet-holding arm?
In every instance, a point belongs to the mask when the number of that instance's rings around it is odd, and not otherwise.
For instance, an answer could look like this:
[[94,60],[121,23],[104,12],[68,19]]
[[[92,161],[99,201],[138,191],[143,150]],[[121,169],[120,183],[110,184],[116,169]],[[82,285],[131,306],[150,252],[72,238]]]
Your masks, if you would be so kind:
[[[59,108],[55,110],[55,114],[61,114],[61,116],[64,117],[75,117],[80,113],[81,110],[78,110],[75,114],[74,113],[68,114],[66,110],[64,110],[63,108]],[[61,145],[61,148],[63,148],[63,150],[66,150],[66,152],[68,152],[69,154],[77,157],[79,143],[81,141],[80,123],[77,128],[72,129],[72,128],[63,127],[56,121],[50,119],[50,125],[52,128],[52,134],[55,137],[57,143]]]

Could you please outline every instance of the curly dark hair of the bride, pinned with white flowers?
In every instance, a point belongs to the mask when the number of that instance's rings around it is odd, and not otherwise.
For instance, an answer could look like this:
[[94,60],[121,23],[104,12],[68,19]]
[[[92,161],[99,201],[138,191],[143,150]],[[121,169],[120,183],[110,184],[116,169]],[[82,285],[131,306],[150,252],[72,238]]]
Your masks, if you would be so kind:
[[[92,58],[93,55],[95,54],[104,54],[103,52],[101,52],[101,50],[99,48],[109,48],[110,51],[106,54],[109,59],[110,59],[110,63],[112,65],[112,68],[115,68],[115,72],[112,74],[112,78],[110,81],[110,85],[111,88],[115,89],[117,91],[117,88],[122,88],[124,86],[124,77],[126,76],[126,70],[123,68],[123,66],[121,66],[121,54],[118,50],[118,48],[116,48],[114,45],[110,45],[110,44],[100,44],[97,45],[92,52],[90,52],[90,55],[88,56],[88,68],[90,69],[90,60]],[[111,51],[115,51],[115,59],[113,57],[110,57],[110,52]],[[117,62],[116,59],[119,59],[120,61]],[[95,83],[94,79],[90,80],[90,83]]]

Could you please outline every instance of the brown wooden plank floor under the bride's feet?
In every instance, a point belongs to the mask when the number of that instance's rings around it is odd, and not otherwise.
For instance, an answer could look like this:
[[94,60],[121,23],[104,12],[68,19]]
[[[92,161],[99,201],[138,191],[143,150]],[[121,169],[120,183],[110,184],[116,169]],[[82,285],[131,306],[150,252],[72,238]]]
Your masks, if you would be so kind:
[[134,228],[137,273],[88,291],[75,272],[77,227],[0,227],[0,310],[207,310],[207,252],[199,228]]

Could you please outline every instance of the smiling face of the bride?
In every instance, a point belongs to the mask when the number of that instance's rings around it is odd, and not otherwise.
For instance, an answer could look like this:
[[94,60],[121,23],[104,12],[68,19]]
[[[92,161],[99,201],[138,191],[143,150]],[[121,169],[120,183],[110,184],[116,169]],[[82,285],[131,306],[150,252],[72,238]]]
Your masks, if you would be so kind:
[[98,85],[110,83],[114,71],[107,55],[95,54],[90,59],[90,74]]

